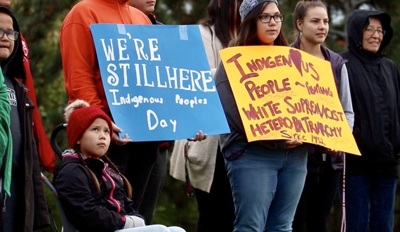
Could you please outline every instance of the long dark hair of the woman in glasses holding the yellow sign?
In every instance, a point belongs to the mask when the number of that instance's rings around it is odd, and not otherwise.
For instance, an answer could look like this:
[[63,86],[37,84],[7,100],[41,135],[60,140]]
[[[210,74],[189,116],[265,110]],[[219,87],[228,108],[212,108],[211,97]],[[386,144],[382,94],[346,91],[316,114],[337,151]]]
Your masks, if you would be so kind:
[[[236,39],[232,39],[232,41],[229,43],[229,46],[251,46],[260,44],[260,41],[257,37],[257,20],[258,16],[261,15],[262,11],[264,11],[268,4],[275,3],[272,1],[267,1],[265,4],[259,4],[253,9],[253,11],[246,15],[246,18],[244,18],[243,22],[241,22]],[[279,6],[278,8],[279,11],[282,12]],[[288,46],[288,40],[284,34],[283,26],[284,25],[282,23],[281,31],[279,32],[278,37],[276,37],[274,45]]]

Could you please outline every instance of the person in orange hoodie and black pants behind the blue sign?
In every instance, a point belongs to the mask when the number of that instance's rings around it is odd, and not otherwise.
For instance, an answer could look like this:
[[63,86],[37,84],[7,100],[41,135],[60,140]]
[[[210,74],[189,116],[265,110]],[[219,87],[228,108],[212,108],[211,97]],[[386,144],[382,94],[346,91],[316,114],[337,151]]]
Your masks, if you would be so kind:
[[[112,118],[90,29],[90,25],[95,23],[149,25],[151,22],[147,15],[129,6],[128,0],[79,1],[62,22],[60,51],[68,102],[72,103],[78,98],[85,100],[98,106]],[[159,142],[131,142],[127,134],[124,138],[119,137],[122,129],[112,122],[114,133],[109,146],[109,156],[133,186],[134,207],[138,210],[159,153]],[[135,157],[135,162],[140,163],[140,168],[129,168],[133,160],[130,157]]]

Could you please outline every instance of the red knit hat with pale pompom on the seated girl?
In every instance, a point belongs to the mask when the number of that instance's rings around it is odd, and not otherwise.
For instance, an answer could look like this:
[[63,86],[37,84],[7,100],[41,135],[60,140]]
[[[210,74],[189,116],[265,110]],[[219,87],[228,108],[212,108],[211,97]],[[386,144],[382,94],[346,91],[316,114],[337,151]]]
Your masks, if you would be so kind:
[[75,148],[76,142],[78,142],[86,129],[98,118],[107,122],[109,136],[112,136],[112,122],[108,115],[97,106],[89,105],[84,100],[78,99],[67,105],[64,117],[67,121],[67,138],[71,148]]

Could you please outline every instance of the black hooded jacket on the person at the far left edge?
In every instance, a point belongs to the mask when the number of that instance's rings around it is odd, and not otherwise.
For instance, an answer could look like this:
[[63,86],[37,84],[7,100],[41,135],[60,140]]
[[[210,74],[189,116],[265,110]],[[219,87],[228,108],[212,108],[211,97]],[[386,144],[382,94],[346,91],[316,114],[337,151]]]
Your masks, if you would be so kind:
[[[8,8],[1,5],[0,12],[10,15],[11,18],[13,18],[13,30],[20,32],[20,27],[18,27],[18,22],[13,13],[11,13]],[[1,71],[5,77],[10,77],[15,88],[18,102],[18,114],[20,116],[20,133],[22,135],[20,159],[13,158],[13,168],[16,162],[18,162],[19,167],[19,172],[14,171],[13,176],[16,178],[15,181],[20,183],[17,200],[21,205],[21,207],[18,208],[18,218],[15,219],[20,222],[15,224],[15,231],[30,232],[49,226],[50,218],[44,186],[41,181],[39,155],[32,127],[32,111],[34,109],[34,104],[27,96],[28,89],[16,79],[26,79],[22,54],[22,41],[20,37],[18,37],[14,42],[14,49],[11,56],[1,61]],[[4,207],[3,210],[7,210],[7,208]],[[2,213],[4,214],[6,212]]]

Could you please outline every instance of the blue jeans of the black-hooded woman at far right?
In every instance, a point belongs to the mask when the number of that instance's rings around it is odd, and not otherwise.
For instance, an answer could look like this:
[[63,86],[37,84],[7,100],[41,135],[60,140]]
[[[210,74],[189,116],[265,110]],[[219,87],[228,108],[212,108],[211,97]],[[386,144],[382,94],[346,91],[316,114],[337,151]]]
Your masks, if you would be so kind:
[[393,232],[394,176],[346,176],[346,231]]

